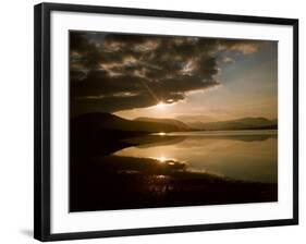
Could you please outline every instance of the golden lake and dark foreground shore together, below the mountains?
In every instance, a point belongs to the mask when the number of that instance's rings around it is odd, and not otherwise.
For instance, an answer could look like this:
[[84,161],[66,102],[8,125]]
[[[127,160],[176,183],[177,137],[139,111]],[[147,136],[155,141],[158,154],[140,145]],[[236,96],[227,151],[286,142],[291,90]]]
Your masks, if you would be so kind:
[[277,150],[273,131],[75,139],[70,210],[276,202]]

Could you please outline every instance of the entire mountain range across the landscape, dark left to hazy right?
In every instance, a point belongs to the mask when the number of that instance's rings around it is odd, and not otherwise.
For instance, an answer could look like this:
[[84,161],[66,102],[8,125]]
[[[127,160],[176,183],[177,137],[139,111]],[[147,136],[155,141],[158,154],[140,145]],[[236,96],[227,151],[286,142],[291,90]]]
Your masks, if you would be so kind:
[[217,122],[184,123],[175,119],[137,118],[127,120],[111,113],[87,113],[72,120],[71,125],[81,131],[122,131],[122,132],[184,132],[220,130],[278,129],[277,120],[266,118],[242,118]]

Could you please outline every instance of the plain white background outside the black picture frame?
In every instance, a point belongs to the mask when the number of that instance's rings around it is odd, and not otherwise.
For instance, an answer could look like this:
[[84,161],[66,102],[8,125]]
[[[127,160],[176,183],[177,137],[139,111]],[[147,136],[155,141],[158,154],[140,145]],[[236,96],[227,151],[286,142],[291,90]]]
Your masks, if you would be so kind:
[[[56,0],[54,0],[56,1]],[[33,240],[33,7],[39,1],[2,1],[0,14],[0,243]],[[305,7],[303,1],[268,0],[65,0],[117,5],[299,19],[299,196],[298,227],[257,228],[145,235],[65,243],[305,243],[306,143]],[[306,4],[305,4],[306,5]]]

